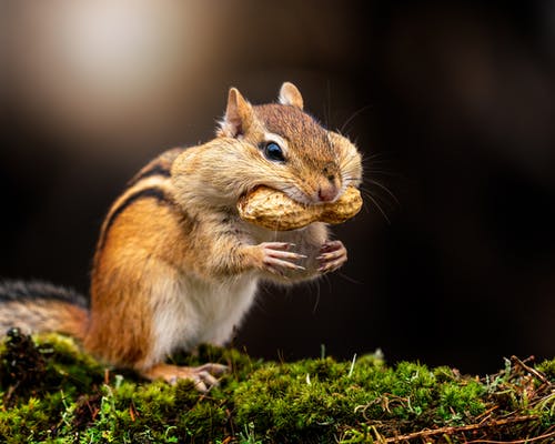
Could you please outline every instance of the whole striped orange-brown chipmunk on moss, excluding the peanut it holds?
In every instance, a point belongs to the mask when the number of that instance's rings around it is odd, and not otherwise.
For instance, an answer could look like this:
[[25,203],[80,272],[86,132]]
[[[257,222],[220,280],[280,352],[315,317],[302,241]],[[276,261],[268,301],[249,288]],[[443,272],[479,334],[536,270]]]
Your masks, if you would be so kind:
[[341,241],[314,222],[275,232],[239,218],[241,195],[268,185],[305,204],[333,202],[362,180],[353,143],[303,111],[283,83],[278,103],[253,105],[231,88],[216,137],[144,167],[115,200],[94,254],[90,303],[37,282],[0,285],[0,327],[59,331],[117,366],[170,383],[218,383],[219,364],[165,363],[201,343],[224,345],[259,281],[291,285],[339,269]]

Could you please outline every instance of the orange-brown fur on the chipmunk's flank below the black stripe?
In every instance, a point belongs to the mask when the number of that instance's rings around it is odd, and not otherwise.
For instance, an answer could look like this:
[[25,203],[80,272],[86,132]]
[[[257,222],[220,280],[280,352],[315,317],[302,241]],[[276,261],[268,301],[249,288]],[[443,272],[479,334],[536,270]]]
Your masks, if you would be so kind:
[[89,351],[112,363],[142,367],[153,342],[149,276],[158,273],[157,259],[173,266],[186,263],[180,236],[190,231],[186,225],[171,201],[153,199],[139,200],[118,218],[94,259],[84,341]]

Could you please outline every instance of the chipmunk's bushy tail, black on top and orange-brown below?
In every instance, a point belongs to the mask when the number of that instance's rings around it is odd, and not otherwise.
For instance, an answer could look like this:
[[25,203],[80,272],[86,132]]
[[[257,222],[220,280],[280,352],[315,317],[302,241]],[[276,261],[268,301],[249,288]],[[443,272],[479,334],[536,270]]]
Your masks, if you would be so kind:
[[0,283],[0,335],[11,327],[23,333],[60,332],[84,339],[89,323],[88,300],[46,282]]

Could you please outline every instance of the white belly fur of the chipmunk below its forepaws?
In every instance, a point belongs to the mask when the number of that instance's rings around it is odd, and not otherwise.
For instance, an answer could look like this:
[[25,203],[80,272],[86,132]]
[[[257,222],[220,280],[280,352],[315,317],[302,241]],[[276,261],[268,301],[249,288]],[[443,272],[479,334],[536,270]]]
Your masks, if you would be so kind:
[[152,362],[202,343],[223,345],[254,301],[258,279],[229,278],[220,283],[167,276],[152,287]]

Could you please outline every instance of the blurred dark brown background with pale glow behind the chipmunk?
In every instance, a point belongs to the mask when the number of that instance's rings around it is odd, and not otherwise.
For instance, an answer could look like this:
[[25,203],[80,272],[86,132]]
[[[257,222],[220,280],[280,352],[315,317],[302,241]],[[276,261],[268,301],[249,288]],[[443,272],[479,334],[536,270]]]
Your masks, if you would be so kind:
[[335,229],[346,266],[265,287],[235,345],[471,373],[555,356],[555,2],[13,1],[0,51],[0,276],[87,292],[133,173],[212,138],[230,85],[260,103],[290,80],[373,199]]

